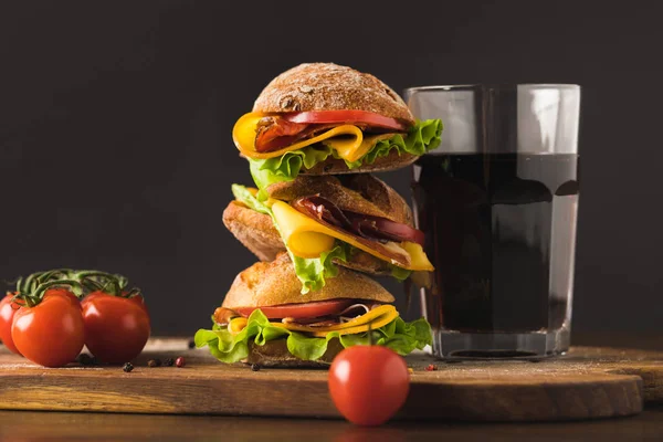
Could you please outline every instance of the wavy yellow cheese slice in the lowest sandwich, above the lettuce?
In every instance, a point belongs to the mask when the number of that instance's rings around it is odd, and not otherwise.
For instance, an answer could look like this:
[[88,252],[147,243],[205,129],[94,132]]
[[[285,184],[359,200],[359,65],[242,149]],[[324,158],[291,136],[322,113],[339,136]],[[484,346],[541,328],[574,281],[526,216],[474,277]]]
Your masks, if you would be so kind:
[[[392,305],[381,305],[373,308],[365,315],[356,317],[344,324],[336,324],[328,327],[311,327],[302,324],[283,324],[270,323],[273,327],[285,328],[291,332],[299,332],[313,335],[315,337],[325,337],[330,332],[338,332],[339,335],[352,335],[357,333],[368,332],[369,325],[371,329],[377,329],[391,323],[399,316],[396,307]],[[233,335],[236,335],[246,327],[246,318],[233,318],[228,325],[228,329]]]

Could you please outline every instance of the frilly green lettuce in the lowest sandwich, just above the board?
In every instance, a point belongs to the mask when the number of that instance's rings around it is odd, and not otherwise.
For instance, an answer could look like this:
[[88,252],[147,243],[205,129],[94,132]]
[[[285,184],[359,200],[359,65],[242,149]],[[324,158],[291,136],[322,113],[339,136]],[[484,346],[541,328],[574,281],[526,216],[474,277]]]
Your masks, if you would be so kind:
[[286,330],[270,325],[267,317],[255,309],[249,316],[246,327],[236,335],[225,328],[214,326],[212,330],[200,329],[196,333],[196,347],[209,347],[210,354],[222,362],[236,362],[249,356],[249,343],[263,346],[275,339],[286,338],[287,349],[295,357],[304,360],[319,359],[332,339],[338,339],[347,348],[355,345],[381,345],[391,348],[401,356],[414,349],[423,349],[432,344],[431,326],[420,318],[406,323],[397,317],[383,327],[370,332],[339,336],[337,332],[328,333],[324,338],[307,336],[302,333]]

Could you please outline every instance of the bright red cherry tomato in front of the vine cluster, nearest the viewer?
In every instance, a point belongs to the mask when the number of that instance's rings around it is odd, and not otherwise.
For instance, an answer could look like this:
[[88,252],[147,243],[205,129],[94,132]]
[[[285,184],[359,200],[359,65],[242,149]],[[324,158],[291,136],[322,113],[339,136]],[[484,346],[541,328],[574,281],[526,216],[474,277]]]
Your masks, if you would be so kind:
[[66,290],[48,291],[41,303],[14,314],[11,337],[19,351],[35,364],[61,367],[73,361],[85,343],[78,301]]

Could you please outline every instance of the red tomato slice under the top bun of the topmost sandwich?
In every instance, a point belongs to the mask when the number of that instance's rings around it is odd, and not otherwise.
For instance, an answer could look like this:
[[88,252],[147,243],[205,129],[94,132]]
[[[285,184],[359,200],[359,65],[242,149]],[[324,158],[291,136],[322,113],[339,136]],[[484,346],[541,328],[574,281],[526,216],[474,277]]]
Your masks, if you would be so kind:
[[382,127],[397,131],[407,131],[408,126],[396,118],[389,118],[380,114],[366,110],[312,110],[297,112],[281,115],[291,123],[325,124],[348,123],[365,124],[371,127]]

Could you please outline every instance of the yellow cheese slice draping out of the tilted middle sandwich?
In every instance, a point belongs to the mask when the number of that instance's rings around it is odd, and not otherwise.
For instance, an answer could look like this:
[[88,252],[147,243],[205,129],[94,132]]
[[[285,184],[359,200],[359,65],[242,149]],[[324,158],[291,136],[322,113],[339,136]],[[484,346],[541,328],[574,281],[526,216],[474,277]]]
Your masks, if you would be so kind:
[[[299,257],[318,257],[322,252],[328,251],[334,246],[334,241],[324,239],[324,236],[336,238],[340,241],[347,242],[350,245],[356,246],[369,253],[380,260],[390,262],[394,265],[403,266],[407,270],[422,270],[433,271],[434,267],[429,261],[428,256],[421,249],[421,245],[417,243],[402,242],[402,243],[387,243],[387,248],[391,248],[403,251],[403,253],[410,255],[410,264],[404,266],[401,263],[393,261],[391,257],[381,254],[380,252],[371,249],[370,246],[358,242],[354,236],[337,232],[319,222],[306,217],[304,213],[298,212],[290,204],[283,201],[275,201],[272,204],[272,212],[274,213],[274,221],[278,227],[283,241],[290,249],[290,251]],[[309,233],[317,233],[316,236],[311,236]]]

